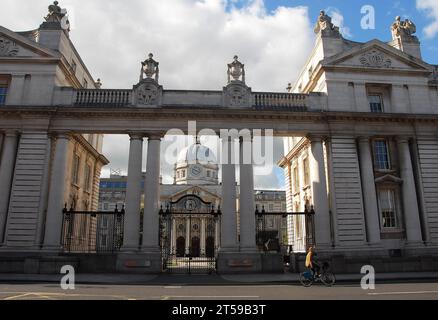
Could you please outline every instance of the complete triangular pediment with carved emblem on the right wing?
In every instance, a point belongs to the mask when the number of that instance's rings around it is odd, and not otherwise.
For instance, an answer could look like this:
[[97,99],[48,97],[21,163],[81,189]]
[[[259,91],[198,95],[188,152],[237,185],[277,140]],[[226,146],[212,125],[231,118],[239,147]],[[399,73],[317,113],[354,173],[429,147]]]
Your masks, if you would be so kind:
[[325,59],[324,66],[429,72],[429,66],[378,40]]

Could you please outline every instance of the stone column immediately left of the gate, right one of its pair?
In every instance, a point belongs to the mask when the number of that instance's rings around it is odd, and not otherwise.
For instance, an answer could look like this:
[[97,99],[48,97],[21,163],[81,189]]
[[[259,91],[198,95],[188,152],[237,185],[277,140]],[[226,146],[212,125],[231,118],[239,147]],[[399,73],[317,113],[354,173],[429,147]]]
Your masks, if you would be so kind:
[[144,192],[143,245],[144,252],[159,252],[160,146],[161,135],[151,134],[148,140]]

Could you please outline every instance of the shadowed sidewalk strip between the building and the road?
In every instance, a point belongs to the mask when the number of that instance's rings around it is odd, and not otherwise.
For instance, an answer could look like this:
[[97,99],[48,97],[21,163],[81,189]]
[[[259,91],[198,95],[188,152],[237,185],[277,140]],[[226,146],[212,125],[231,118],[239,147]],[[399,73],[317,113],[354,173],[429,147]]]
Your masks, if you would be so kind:
[[[336,275],[338,282],[360,281],[361,274]],[[63,275],[1,274],[0,283],[59,283]],[[376,274],[376,281],[437,281],[438,272],[405,272]],[[78,284],[104,285],[254,285],[299,283],[298,274],[247,274],[247,275],[128,275],[128,274],[77,274]]]

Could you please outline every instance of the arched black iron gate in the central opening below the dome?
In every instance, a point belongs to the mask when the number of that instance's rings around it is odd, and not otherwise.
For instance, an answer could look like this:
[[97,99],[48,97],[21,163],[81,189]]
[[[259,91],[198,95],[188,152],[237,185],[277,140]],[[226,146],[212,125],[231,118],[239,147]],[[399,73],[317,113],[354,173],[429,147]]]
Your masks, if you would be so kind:
[[170,202],[160,210],[163,272],[211,274],[216,271],[220,208],[196,195]]

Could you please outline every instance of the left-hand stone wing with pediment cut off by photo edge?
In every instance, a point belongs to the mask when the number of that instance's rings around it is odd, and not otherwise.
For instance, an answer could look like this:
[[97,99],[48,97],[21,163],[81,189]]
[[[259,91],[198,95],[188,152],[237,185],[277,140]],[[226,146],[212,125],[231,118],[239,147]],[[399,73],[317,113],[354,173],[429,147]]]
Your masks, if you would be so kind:
[[[97,89],[73,43],[60,27],[63,15],[56,5],[39,28],[13,32],[0,26],[0,108],[52,103],[55,87]],[[38,247],[44,238],[45,214],[54,170],[55,148],[63,141],[61,160],[65,189],[62,202],[75,210],[97,210],[101,169],[108,164],[102,154],[102,134],[64,132],[56,138],[40,128],[47,120],[22,113],[22,130],[2,127],[0,135],[0,243],[2,246]],[[26,128],[26,123],[32,128]],[[17,130],[18,129],[18,130]],[[17,228],[20,224],[26,228]]]

